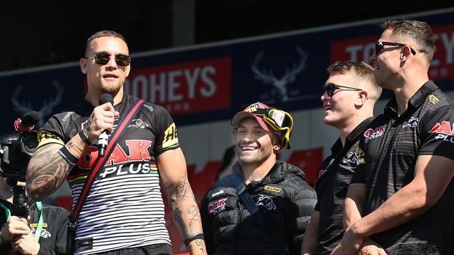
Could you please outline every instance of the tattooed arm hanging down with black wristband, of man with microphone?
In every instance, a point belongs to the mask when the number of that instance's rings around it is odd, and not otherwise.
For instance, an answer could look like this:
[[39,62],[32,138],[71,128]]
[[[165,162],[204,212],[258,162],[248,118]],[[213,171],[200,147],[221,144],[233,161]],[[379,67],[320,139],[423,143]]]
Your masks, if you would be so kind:
[[168,150],[159,155],[157,163],[173,219],[180,229],[183,240],[190,240],[187,244],[190,254],[207,254],[203,235],[201,235],[202,220],[189,185],[182,150],[180,148]]

